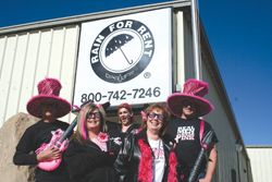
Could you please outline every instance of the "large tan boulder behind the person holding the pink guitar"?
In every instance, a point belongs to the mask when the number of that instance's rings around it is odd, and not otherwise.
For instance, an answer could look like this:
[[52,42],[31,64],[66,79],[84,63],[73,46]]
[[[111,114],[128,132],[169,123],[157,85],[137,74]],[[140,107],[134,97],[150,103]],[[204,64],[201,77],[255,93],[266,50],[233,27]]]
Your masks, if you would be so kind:
[[4,122],[0,129],[0,181],[34,182],[34,169],[29,166],[15,166],[13,155],[25,130],[37,122],[26,113],[17,113]]

